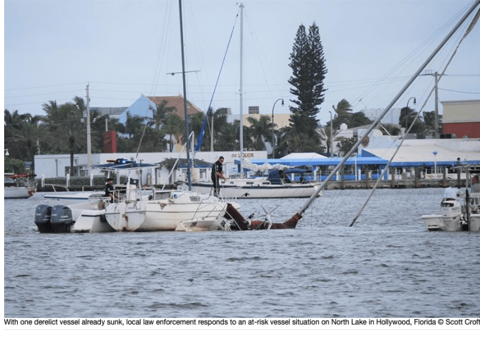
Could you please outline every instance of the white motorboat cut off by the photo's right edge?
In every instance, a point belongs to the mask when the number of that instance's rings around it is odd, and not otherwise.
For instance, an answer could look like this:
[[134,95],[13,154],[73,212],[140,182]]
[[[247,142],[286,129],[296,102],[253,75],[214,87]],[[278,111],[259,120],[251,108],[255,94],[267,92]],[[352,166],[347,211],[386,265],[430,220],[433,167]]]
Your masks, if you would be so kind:
[[[461,170],[461,167],[457,167]],[[466,167],[468,176],[480,172],[480,168]],[[421,216],[429,231],[480,231],[480,183],[463,191],[447,187],[440,202],[440,214]]]

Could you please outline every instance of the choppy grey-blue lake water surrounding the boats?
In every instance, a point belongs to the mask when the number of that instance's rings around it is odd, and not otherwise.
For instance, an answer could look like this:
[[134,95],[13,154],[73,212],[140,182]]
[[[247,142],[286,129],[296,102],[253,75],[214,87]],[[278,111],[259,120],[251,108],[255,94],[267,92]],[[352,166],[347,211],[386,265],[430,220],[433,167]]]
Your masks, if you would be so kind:
[[[5,200],[5,317],[479,317],[480,234],[425,229],[442,189],[324,191],[297,229],[40,234]],[[242,213],[305,202],[241,200]]]

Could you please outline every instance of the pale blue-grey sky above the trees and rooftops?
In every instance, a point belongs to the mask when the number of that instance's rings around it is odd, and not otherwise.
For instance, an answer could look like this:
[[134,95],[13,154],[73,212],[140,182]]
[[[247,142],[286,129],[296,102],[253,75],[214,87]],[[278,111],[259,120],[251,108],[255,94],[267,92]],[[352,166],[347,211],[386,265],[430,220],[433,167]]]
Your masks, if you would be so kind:
[[[342,99],[353,112],[385,108],[473,2],[244,0],[243,113],[248,106],[268,115],[289,113],[295,98],[289,56],[298,27],[308,30],[313,23],[328,71],[320,123],[330,120]],[[182,3],[187,98],[203,111],[213,97],[213,108],[239,114],[239,3]],[[177,0],[4,0],[3,10],[3,100],[10,112],[44,115],[43,104],[85,97],[87,84],[91,107],[130,106],[142,94],[182,94]],[[429,73],[444,71],[468,24],[427,66]],[[480,99],[479,25],[448,65],[440,102]],[[434,95],[427,100],[433,80],[420,76],[393,107],[416,97],[410,108],[426,104],[424,111],[433,111]]]

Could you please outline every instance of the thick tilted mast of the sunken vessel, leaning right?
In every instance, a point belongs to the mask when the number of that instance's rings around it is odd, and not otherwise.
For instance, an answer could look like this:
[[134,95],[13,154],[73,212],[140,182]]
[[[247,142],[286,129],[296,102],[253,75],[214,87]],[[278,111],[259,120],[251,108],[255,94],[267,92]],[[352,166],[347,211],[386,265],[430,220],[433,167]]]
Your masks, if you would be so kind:
[[405,86],[403,86],[403,88],[400,90],[400,92],[394,97],[394,100],[392,100],[392,102],[390,102],[388,104],[387,108],[385,108],[385,110],[381,113],[381,115],[379,115],[379,117],[376,119],[376,121],[374,121],[374,123],[372,123],[370,125],[370,127],[366,130],[363,137],[361,137],[357,141],[357,143],[355,143],[355,145],[352,146],[351,150],[348,151],[347,154],[345,154],[344,158],[341,159],[340,163],[338,163],[338,165],[335,166],[335,168],[332,170],[332,172],[326,177],[325,181],[317,188],[317,191],[315,191],[315,193],[309,198],[309,200],[307,200],[307,202],[304,203],[302,208],[298,211],[298,214],[302,215],[304,213],[304,211],[311,205],[313,200],[315,200],[315,198],[320,193],[320,191],[322,191],[324,189],[325,185],[328,183],[328,181],[331,180],[333,175],[336,174],[338,172],[338,170],[340,169],[340,167],[342,165],[344,165],[344,163],[348,160],[348,158],[350,158],[350,155],[353,152],[355,152],[355,150],[357,150],[357,148],[359,147],[359,145],[361,144],[363,139],[365,139],[365,137],[367,137],[370,134],[370,132],[372,132],[372,130],[375,128],[375,126],[377,124],[379,124],[381,119],[383,119],[383,117],[385,117],[387,112],[392,108],[392,106],[394,106],[396,101],[403,95],[403,93],[405,93],[405,91],[407,91],[407,89],[409,88],[409,86],[411,86],[413,81],[416,80],[418,75],[420,75],[420,73],[423,71],[423,69],[425,67],[427,67],[427,65],[431,62],[431,60],[438,54],[438,51],[440,51],[440,49],[442,49],[442,47],[444,47],[444,45],[448,42],[448,40],[450,40],[450,38],[453,36],[453,34],[455,34],[455,32],[458,30],[458,28],[466,21],[466,19],[468,19],[468,16],[470,16],[470,14],[472,14],[472,12],[475,10],[475,8],[479,4],[480,4],[480,0],[475,1],[475,4],[472,5],[472,7],[470,8],[470,10],[468,10],[468,12],[466,12],[466,14],[459,21],[459,23],[457,23],[457,25],[455,25],[455,27],[453,27],[453,30],[451,30],[451,32],[448,33],[448,35],[444,38],[444,40],[442,40],[442,43],[440,43],[440,45],[438,45],[438,47],[433,51],[431,56],[429,56],[429,58],[427,58],[427,60],[416,71],[416,73],[413,74],[413,76],[410,78],[410,80],[407,82],[407,84],[405,84]]

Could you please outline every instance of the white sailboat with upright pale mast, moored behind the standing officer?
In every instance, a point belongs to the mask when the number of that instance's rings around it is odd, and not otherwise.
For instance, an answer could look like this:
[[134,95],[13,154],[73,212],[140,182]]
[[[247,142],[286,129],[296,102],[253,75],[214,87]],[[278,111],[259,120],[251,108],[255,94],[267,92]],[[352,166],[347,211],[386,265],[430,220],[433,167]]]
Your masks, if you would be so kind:
[[[287,176],[290,173],[295,172],[282,172],[285,174],[285,178],[279,178],[278,174],[272,174],[267,177],[259,178],[245,178],[243,176],[242,167],[245,165],[245,159],[243,157],[243,3],[239,4],[240,8],[240,177],[229,178],[228,181],[219,181],[220,196],[221,198],[239,199],[239,198],[308,198],[320,185],[320,183],[309,181],[296,181],[295,179],[289,179]],[[208,109],[210,111],[210,109]],[[203,135],[205,126],[208,121],[208,114],[205,118],[202,131],[198,136],[197,146],[195,150],[200,150],[202,146]],[[264,164],[265,165],[265,164]],[[255,170],[254,164],[250,163],[249,168]],[[291,168],[291,167],[288,167]],[[278,171],[277,171],[278,172]],[[182,183],[182,182],[178,182]],[[202,194],[212,194],[213,184],[206,182],[192,183],[193,187]]]

